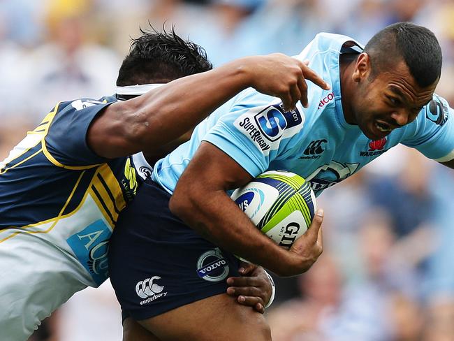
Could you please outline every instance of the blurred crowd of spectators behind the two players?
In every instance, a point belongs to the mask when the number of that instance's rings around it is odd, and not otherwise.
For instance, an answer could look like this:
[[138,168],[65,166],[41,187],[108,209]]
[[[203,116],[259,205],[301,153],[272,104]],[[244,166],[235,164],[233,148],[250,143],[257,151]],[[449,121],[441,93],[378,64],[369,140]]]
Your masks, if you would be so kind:
[[[453,0],[0,0],[0,159],[61,100],[113,94],[131,36],[175,25],[214,66],[296,55],[319,31],[362,43],[412,21],[444,52],[454,103]],[[324,253],[277,279],[276,341],[454,340],[454,173],[397,147],[325,191]],[[76,294],[31,340],[121,340],[109,283]]]

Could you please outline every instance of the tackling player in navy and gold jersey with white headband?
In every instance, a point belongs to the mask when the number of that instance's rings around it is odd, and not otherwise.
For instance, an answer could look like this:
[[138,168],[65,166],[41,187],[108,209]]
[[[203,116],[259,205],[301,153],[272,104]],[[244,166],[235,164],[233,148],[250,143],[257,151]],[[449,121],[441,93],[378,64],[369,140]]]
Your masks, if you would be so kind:
[[[58,103],[0,163],[1,341],[27,340],[73,293],[104,282],[108,240],[151,173],[147,161],[173,150],[179,136],[242,89],[277,94],[291,108],[307,101],[305,77],[324,84],[284,55],[247,57],[209,71],[198,45],[173,32],[142,33],[117,79],[117,97],[136,99]],[[148,92],[156,87],[148,83],[166,82]],[[230,281],[235,295],[246,298],[240,303],[263,310],[270,283],[260,269],[251,274]],[[140,333],[140,340],[155,340],[136,326],[126,319],[126,339]]]

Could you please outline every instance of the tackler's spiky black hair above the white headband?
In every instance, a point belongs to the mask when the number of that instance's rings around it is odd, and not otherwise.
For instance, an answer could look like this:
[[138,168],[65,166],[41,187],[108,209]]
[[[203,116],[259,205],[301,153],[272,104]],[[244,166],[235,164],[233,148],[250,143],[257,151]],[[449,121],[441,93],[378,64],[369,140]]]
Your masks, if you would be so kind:
[[177,36],[173,27],[161,32],[153,27],[140,28],[140,32],[140,37],[132,39],[129,54],[119,69],[119,87],[169,82],[213,67],[205,50]]

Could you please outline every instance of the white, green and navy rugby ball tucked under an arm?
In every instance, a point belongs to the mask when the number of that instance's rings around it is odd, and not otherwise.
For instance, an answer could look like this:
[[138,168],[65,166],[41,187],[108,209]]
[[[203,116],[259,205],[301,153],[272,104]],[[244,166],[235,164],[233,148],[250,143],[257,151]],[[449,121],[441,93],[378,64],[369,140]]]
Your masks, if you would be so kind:
[[260,231],[286,248],[307,231],[316,212],[309,182],[282,170],[258,175],[231,198]]

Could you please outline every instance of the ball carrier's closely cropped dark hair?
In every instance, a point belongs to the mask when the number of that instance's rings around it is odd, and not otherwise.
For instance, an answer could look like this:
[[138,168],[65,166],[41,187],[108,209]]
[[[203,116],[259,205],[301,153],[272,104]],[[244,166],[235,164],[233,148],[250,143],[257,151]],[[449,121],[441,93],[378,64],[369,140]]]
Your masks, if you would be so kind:
[[365,46],[372,74],[385,70],[397,58],[404,59],[420,87],[432,85],[441,74],[441,48],[435,35],[411,22],[392,24],[375,34]]

